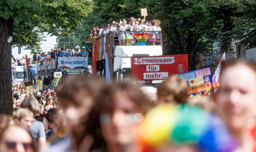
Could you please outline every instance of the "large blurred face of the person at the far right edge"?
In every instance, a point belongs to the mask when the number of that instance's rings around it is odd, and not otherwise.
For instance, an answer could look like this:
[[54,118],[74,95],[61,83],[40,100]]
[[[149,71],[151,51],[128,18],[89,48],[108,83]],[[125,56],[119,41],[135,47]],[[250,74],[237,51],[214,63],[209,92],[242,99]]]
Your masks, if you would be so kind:
[[221,68],[216,102],[223,120],[240,143],[245,140],[251,143],[248,130],[255,127],[256,67],[247,62],[229,61],[222,62]]

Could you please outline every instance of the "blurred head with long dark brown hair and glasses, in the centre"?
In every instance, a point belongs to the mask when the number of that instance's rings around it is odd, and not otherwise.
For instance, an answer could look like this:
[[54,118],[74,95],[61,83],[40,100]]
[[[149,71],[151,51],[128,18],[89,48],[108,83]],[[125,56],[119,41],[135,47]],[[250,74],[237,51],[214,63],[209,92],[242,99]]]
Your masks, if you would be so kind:
[[[81,125],[82,128],[87,127],[82,132],[94,139],[90,149],[132,149],[137,139],[137,126],[143,121],[143,114],[151,108],[151,104],[136,85],[120,83],[102,88],[88,120]],[[77,138],[78,147],[83,139],[84,136]]]

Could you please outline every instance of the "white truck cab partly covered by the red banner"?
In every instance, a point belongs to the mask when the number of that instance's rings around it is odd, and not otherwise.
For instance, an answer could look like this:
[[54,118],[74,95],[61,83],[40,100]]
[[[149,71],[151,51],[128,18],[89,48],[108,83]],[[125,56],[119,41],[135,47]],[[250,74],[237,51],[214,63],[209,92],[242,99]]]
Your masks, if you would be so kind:
[[[116,81],[129,81],[131,77],[131,58],[135,56],[163,55],[162,46],[116,46],[114,53],[113,72]],[[114,77],[115,78],[115,77]]]

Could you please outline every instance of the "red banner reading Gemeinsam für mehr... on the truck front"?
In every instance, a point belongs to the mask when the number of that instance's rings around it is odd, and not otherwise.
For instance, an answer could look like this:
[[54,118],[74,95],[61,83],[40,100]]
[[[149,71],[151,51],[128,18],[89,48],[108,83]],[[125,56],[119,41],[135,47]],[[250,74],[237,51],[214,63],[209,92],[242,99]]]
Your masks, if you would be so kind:
[[188,54],[131,57],[135,80],[162,80],[172,74],[188,72]]

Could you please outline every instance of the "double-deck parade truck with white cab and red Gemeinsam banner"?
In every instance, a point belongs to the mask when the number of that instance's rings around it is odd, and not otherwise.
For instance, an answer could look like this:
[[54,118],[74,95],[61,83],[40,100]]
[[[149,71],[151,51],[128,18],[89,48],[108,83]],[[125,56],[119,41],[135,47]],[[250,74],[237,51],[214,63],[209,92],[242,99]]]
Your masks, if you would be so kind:
[[[136,84],[155,86],[171,74],[188,71],[188,55],[164,55],[161,31],[125,32],[126,46],[118,46],[111,32],[94,39],[92,74],[106,83],[133,81]],[[155,34],[155,46],[149,46],[149,34]],[[131,79],[132,78],[132,79]]]

